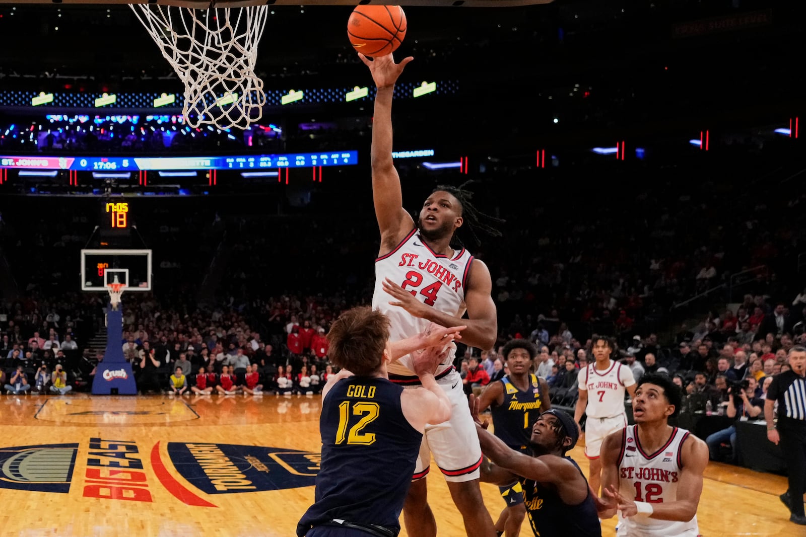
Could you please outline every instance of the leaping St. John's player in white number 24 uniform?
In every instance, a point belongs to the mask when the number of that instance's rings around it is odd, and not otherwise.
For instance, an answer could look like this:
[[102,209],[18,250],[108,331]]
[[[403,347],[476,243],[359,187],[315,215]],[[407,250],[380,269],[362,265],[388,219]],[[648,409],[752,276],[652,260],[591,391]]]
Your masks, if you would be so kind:
[[[392,160],[392,98],[394,85],[413,58],[395,64],[393,56],[368,60],[377,86],[372,128],[372,195],[380,227],[380,252],[376,259],[376,285],[372,307],[392,321],[390,340],[412,337],[430,322],[442,326],[465,324],[463,342],[489,349],[497,333],[496,307],[492,302],[492,280],[483,262],[464,250],[451,248],[454,233],[466,221],[490,233],[480,223],[484,217],[470,203],[461,188],[438,188],[428,196],[418,224],[403,209],[401,181]],[[389,299],[390,295],[392,300]],[[463,319],[467,310],[467,319]],[[426,475],[430,459],[445,476],[448,489],[462,514],[467,535],[493,537],[492,518],[484,506],[479,487],[481,448],[476,426],[467,408],[462,380],[453,367],[454,349],[439,365],[437,382],[451,399],[451,419],[426,427],[413,481],[403,508],[406,531],[418,537],[437,535],[434,514],[428,505]],[[403,386],[417,386],[412,357],[407,355],[388,366],[389,380]]]

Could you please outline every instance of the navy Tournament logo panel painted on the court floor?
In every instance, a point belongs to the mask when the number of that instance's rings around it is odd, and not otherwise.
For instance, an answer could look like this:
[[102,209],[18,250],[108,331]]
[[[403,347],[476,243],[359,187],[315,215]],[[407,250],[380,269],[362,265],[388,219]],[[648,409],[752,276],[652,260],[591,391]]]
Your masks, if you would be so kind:
[[314,485],[320,453],[234,444],[168,443],[177,472],[206,494],[260,492]]

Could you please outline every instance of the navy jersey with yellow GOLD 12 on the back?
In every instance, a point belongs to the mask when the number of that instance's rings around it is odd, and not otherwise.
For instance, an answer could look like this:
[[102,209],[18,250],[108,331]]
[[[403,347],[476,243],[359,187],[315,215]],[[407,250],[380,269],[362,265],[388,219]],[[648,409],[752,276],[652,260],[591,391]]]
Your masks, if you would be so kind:
[[297,535],[333,518],[400,530],[422,442],[403,415],[402,393],[385,378],[350,377],[326,394],[319,419],[322,469]]

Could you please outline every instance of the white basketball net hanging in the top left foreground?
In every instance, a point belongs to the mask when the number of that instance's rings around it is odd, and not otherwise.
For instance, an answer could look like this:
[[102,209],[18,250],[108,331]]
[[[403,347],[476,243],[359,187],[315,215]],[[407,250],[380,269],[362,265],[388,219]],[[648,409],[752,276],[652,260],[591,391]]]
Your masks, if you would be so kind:
[[129,6],[185,84],[187,125],[245,129],[260,120],[266,94],[255,64],[268,6]]

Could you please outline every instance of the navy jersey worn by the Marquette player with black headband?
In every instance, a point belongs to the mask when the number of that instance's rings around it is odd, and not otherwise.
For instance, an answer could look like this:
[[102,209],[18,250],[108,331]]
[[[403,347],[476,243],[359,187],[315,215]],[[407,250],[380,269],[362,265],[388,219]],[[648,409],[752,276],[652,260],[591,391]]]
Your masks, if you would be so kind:
[[[571,459],[576,469],[580,467]],[[582,474],[582,470],[580,470]],[[583,474],[584,476],[584,474]],[[585,481],[587,484],[588,481]],[[578,506],[568,506],[560,499],[554,485],[521,479],[526,514],[534,535],[540,537],[601,537],[602,528],[596,504],[588,497]]]

